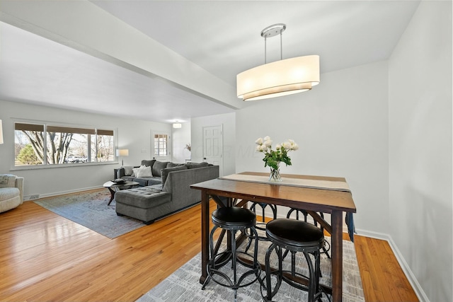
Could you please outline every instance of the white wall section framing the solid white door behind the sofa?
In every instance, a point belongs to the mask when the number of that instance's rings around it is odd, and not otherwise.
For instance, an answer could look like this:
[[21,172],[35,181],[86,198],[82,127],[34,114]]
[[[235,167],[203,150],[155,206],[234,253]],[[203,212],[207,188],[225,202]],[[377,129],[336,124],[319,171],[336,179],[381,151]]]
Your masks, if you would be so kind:
[[236,113],[224,115],[211,115],[208,117],[195,117],[190,122],[192,131],[192,161],[203,161],[203,127],[223,126],[224,154],[223,154],[223,175],[236,173]]

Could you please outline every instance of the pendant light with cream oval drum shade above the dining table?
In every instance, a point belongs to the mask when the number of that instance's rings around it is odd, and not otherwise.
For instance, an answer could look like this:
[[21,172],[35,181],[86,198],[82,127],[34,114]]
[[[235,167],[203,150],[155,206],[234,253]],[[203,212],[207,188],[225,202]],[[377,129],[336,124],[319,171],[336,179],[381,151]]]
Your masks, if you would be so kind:
[[[309,91],[319,84],[319,56],[282,58],[282,33],[286,25],[270,25],[263,29],[264,65],[248,69],[236,76],[237,95],[243,100],[263,100]],[[266,40],[280,34],[280,61],[266,62]]]

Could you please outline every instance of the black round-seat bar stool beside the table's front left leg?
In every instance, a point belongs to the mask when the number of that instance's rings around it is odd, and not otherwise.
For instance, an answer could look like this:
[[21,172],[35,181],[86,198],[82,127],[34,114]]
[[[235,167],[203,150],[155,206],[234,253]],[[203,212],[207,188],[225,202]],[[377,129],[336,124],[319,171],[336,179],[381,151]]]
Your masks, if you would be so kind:
[[[256,215],[249,209],[241,207],[221,207],[212,212],[211,215],[212,223],[214,227],[210,233],[210,260],[207,263],[207,274],[208,277],[202,286],[205,289],[207,283],[212,279],[214,282],[221,286],[229,287],[234,289],[234,298],[236,299],[237,289],[248,286],[258,280],[261,274],[261,267],[257,260],[258,256],[258,240],[255,240],[255,248],[253,255],[246,252],[240,252],[236,250],[236,233],[237,231],[245,232],[246,229],[250,229],[253,236],[258,237],[256,233],[255,223]],[[214,250],[214,232],[217,228],[222,228],[230,232],[229,246],[223,252],[215,253]],[[223,236],[221,236],[222,238]],[[219,239],[222,240],[222,239]],[[241,257],[239,257],[241,256]],[[243,258],[243,259],[241,259]],[[231,260],[231,271],[228,272],[226,269],[222,269]],[[243,265],[247,267],[246,272],[237,276],[237,265]],[[249,277],[254,274],[254,277]],[[218,277],[217,277],[218,276]]]

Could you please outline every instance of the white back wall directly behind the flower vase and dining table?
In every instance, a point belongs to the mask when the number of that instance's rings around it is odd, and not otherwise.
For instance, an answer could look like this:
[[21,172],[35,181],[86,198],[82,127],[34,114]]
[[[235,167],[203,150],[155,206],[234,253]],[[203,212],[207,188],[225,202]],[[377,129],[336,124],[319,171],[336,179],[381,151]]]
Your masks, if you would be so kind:
[[345,177],[357,207],[355,225],[389,233],[387,64],[328,74],[312,91],[258,100],[236,112],[236,170],[268,172],[255,140],[294,139],[281,173]]

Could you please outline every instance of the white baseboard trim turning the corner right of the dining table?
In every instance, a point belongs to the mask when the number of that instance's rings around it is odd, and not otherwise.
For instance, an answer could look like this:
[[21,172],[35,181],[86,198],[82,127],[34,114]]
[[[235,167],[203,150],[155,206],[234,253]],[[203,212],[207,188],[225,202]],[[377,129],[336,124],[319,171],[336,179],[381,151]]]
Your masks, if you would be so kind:
[[430,302],[430,299],[428,298],[428,296],[426,296],[425,291],[423,291],[422,286],[420,286],[420,283],[418,283],[417,278],[415,278],[415,275],[413,274],[411,268],[408,266],[408,263],[406,262],[403,255],[401,254],[401,251],[398,249],[398,246],[396,245],[393,238],[391,238],[391,236],[389,234],[377,233],[377,232],[366,231],[366,230],[361,230],[361,229],[356,229],[356,231],[357,231],[357,235],[360,235],[360,236],[386,240],[389,243],[391,250],[394,252],[396,260],[398,261],[399,265],[401,266],[401,269],[403,269],[403,273],[406,275],[409,283],[411,284],[413,290],[415,291],[415,294],[417,295],[418,300],[420,300],[420,302]]

